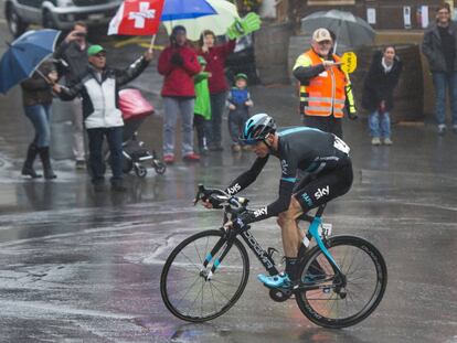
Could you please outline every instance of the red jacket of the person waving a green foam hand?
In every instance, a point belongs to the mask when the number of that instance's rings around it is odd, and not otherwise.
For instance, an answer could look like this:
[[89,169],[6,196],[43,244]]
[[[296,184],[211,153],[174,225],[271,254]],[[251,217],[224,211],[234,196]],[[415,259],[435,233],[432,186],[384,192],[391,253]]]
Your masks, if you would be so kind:
[[226,92],[228,89],[227,81],[225,79],[225,60],[235,49],[236,41],[228,41],[225,44],[210,47],[208,53],[199,50],[199,55],[206,60],[205,72],[211,73],[209,78],[209,86],[211,94]]

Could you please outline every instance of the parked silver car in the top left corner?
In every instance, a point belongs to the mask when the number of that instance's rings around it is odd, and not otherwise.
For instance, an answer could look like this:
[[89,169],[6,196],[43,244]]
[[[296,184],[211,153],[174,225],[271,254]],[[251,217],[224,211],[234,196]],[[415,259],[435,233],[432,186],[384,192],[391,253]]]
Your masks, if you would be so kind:
[[70,30],[75,21],[88,26],[106,24],[116,14],[121,0],[6,0],[4,17],[13,36],[29,24]]

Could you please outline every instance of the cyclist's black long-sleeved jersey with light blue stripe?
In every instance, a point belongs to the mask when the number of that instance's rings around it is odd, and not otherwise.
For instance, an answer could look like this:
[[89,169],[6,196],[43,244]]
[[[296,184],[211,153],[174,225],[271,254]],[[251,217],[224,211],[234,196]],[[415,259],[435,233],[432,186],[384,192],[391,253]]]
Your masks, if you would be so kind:
[[[336,169],[340,160],[348,159],[349,147],[332,133],[308,127],[289,127],[278,129],[277,135],[278,149],[270,154],[280,161],[279,196],[272,204],[254,211],[249,218],[245,218],[244,224],[277,216],[288,210],[299,171],[318,174]],[[232,182],[226,192],[233,195],[252,184],[268,158],[269,156],[257,158],[249,170]]]

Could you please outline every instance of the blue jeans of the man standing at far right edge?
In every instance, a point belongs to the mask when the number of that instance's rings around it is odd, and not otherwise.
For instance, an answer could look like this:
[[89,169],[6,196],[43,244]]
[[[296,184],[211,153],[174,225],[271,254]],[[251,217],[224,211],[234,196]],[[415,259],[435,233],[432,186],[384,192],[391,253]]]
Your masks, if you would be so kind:
[[449,94],[453,125],[457,125],[457,72],[433,73],[435,115],[438,125],[446,125],[446,88]]

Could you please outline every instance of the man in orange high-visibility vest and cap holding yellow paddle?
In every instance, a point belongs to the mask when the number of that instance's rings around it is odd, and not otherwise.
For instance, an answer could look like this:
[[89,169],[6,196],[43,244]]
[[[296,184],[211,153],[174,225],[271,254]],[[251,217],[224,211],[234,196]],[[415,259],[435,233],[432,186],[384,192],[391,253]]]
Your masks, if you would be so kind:
[[311,49],[298,56],[294,76],[300,82],[300,112],[304,124],[342,138],[341,118],[347,110],[355,119],[355,105],[349,76],[340,69],[340,57],[332,54],[327,29],[312,33]]

